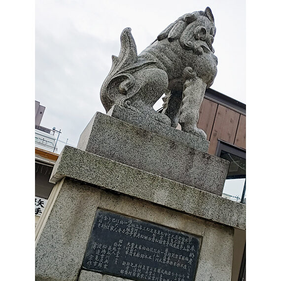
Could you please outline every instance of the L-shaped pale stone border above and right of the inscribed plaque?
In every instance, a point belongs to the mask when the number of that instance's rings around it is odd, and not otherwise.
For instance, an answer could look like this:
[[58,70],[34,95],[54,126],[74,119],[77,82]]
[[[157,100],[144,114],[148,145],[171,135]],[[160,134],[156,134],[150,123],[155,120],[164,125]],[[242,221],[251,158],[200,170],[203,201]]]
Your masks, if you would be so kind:
[[200,266],[195,281],[230,280],[233,248],[231,227],[107,191],[101,194],[100,207],[202,236]]

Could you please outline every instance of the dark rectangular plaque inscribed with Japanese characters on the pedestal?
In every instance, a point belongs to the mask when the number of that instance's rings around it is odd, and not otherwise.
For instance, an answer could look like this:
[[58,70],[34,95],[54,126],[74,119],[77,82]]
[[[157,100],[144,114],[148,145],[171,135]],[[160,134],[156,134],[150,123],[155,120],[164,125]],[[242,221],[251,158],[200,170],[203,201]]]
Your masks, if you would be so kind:
[[133,280],[194,280],[201,238],[98,210],[82,267]]

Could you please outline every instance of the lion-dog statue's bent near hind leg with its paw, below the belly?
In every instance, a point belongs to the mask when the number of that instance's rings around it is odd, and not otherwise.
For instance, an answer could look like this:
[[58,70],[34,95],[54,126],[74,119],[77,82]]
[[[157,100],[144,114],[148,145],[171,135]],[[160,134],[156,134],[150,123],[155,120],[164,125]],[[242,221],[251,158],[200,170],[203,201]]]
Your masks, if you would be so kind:
[[167,91],[167,73],[160,69],[144,69],[133,75],[136,81],[134,88],[124,97],[120,105],[170,126],[170,118],[153,108],[153,105]]

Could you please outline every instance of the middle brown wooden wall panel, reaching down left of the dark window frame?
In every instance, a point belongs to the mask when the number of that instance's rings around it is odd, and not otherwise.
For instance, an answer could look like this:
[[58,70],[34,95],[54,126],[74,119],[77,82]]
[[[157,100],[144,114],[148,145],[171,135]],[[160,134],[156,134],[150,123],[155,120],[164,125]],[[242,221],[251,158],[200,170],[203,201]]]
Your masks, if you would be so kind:
[[215,154],[217,139],[234,144],[240,113],[218,105],[211,131],[209,153]]

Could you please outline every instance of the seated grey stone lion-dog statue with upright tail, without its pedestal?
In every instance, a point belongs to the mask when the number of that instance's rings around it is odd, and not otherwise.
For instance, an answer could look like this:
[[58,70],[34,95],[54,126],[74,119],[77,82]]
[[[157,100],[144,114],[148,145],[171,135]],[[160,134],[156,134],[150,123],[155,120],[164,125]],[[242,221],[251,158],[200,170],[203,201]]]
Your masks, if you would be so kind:
[[[121,34],[121,50],[112,56],[112,67],[102,88],[106,112],[120,105],[206,139],[197,128],[199,109],[217,69],[212,47],[215,35],[211,9],[188,13],[161,32],[137,55],[131,29]],[[153,105],[163,98],[162,113]]]

